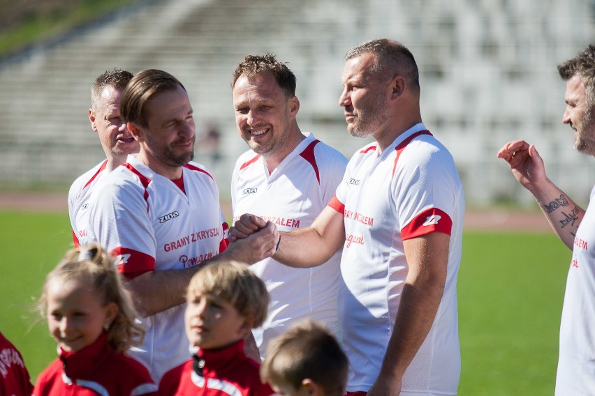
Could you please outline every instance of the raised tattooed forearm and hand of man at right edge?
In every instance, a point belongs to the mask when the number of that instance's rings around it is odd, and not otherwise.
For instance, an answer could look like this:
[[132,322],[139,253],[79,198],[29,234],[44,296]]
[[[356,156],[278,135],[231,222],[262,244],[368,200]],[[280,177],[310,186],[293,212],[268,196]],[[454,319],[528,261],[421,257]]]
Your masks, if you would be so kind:
[[497,156],[508,162],[517,181],[535,197],[558,238],[572,250],[585,211],[550,181],[535,146],[522,140],[508,142]]

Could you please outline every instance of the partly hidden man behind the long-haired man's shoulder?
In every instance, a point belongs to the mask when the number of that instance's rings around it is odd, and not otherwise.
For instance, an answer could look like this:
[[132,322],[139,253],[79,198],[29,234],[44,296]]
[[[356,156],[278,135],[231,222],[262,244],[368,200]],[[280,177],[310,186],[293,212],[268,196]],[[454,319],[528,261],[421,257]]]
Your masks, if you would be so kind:
[[68,215],[75,246],[87,243],[89,197],[94,186],[124,163],[128,154],[138,153],[138,142],[126,129],[119,109],[122,91],[131,78],[132,74],[126,70],[108,70],[91,86],[89,121],[99,136],[105,160],[79,176],[68,191]]

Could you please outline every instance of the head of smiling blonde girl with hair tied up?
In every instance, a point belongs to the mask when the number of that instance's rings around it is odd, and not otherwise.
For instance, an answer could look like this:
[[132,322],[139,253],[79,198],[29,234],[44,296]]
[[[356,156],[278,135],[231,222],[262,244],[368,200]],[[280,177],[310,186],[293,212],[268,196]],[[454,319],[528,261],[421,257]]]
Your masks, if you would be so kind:
[[145,335],[119,273],[97,243],[66,252],[45,277],[38,306],[65,351],[79,351],[105,331],[110,347],[122,352]]

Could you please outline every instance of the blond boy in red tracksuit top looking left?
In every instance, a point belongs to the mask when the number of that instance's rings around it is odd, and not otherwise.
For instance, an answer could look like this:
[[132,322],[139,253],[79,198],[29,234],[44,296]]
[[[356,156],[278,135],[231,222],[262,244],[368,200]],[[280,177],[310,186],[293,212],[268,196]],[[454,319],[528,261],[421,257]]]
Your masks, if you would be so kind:
[[273,395],[260,382],[260,363],[244,353],[244,336],[267,315],[263,281],[244,264],[210,264],[192,277],[186,300],[193,358],[163,376],[159,395]]

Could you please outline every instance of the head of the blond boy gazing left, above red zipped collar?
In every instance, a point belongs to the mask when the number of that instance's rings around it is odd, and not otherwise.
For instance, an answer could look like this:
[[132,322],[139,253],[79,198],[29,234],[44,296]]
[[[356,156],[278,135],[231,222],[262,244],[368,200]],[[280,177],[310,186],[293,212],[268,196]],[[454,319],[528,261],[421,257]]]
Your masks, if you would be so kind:
[[226,261],[201,268],[186,292],[186,335],[202,349],[241,340],[267,316],[265,284],[245,264]]

